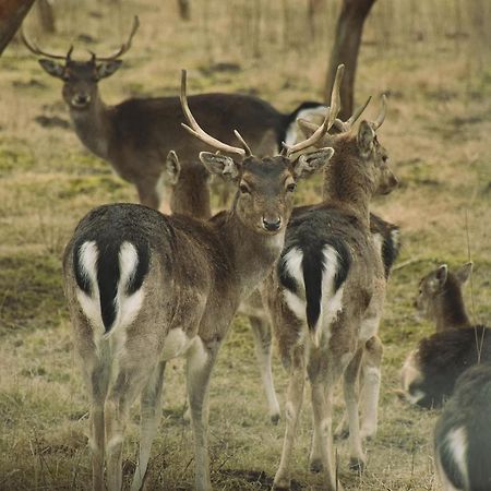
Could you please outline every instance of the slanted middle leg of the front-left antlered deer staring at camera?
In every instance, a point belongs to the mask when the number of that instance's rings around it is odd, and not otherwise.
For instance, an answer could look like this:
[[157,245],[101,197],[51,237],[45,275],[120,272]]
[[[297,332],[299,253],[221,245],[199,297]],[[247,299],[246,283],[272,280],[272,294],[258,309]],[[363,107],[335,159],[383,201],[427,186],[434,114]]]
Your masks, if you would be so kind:
[[164,385],[164,371],[166,362],[160,361],[155,367],[141,397],[140,419],[140,453],[136,470],[131,483],[131,490],[137,491],[142,488],[145,478],[152,442],[158,429],[161,414],[161,393]]

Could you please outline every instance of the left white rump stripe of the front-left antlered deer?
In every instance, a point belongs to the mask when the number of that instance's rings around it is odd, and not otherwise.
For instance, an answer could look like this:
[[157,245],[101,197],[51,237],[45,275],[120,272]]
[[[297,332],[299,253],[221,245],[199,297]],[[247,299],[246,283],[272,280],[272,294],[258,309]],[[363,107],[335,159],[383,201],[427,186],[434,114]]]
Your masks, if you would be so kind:
[[79,254],[80,273],[88,280],[92,291],[92,296],[87,295],[77,286],[76,299],[92,327],[104,333],[99,303],[99,287],[97,284],[97,259],[99,256],[97,244],[94,240],[84,242],[79,251],[74,251],[74,253]]

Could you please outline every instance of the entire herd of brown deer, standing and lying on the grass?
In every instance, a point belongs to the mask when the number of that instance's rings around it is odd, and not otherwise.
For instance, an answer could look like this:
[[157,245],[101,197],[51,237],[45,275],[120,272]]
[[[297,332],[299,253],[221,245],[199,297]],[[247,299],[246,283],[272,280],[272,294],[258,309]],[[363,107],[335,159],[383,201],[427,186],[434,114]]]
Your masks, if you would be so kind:
[[[161,415],[166,362],[185,358],[194,436],[195,489],[211,490],[208,387],[237,312],[254,334],[270,417],[280,418],[272,378],[276,340],[289,381],[285,438],[274,489],[290,489],[290,462],[306,381],[310,385],[309,465],[322,488],[340,490],[333,448],[333,394],[343,381],[349,466],[366,465],[364,439],[378,427],[382,342],[378,336],[399,229],[370,212],[372,196],[397,187],[378,130],[361,120],[370,99],[342,121],[338,68],[330,107],[291,113],[248,95],[132,98],[107,106],[98,82],[121,65],[139,27],[108,57],[88,61],[43,51],[41,68],[63,82],[81,142],[136,187],[141,204],[106,204],[85,215],[63,256],[76,356],[89,398],[93,487],[122,488],[130,408],[140,399],[140,450],[131,484],[142,489]],[[318,125],[309,121],[322,113]],[[294,206],[301,180],[323,172],[322,197]],[[235,191],[212,216],[209,178]],[[165,191],[170,189],[170,199]],[[172,214],[160,213],[161,209]],[[446,265],[420,283],[418,312],[435,323],[402,370],[402,397],[444,406],[434,432],[445,490],[491,489],[491,340],[474,326],[462,286],[471,263]],[[448,399],[448,400],[447,400]],[[345,428],[343,428],[345,427]]]

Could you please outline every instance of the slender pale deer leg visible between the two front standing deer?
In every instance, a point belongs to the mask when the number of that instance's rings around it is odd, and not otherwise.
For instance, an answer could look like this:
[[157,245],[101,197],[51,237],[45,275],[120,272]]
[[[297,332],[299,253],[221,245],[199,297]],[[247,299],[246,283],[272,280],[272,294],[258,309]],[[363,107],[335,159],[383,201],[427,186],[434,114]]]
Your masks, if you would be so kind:
[[255,356],[263,380],[264,391],[266,392],[267,406],[270,408],[270,418],[274,424],[279,421],[279,403],[276,397],[275,385],[273,383],[273,373],[271,370],[272,358],[272,333],[270,324],[264,320],[250,316],[252,333],[254,335]]

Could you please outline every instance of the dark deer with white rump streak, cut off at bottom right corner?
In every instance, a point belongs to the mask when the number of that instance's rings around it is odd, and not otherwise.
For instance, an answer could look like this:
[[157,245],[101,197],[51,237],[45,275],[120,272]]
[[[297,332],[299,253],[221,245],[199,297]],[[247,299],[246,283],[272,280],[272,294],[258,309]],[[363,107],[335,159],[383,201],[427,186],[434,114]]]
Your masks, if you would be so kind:
[[491,364],[457,379],[434,430],[436,471],[443,491],[491,489]]

